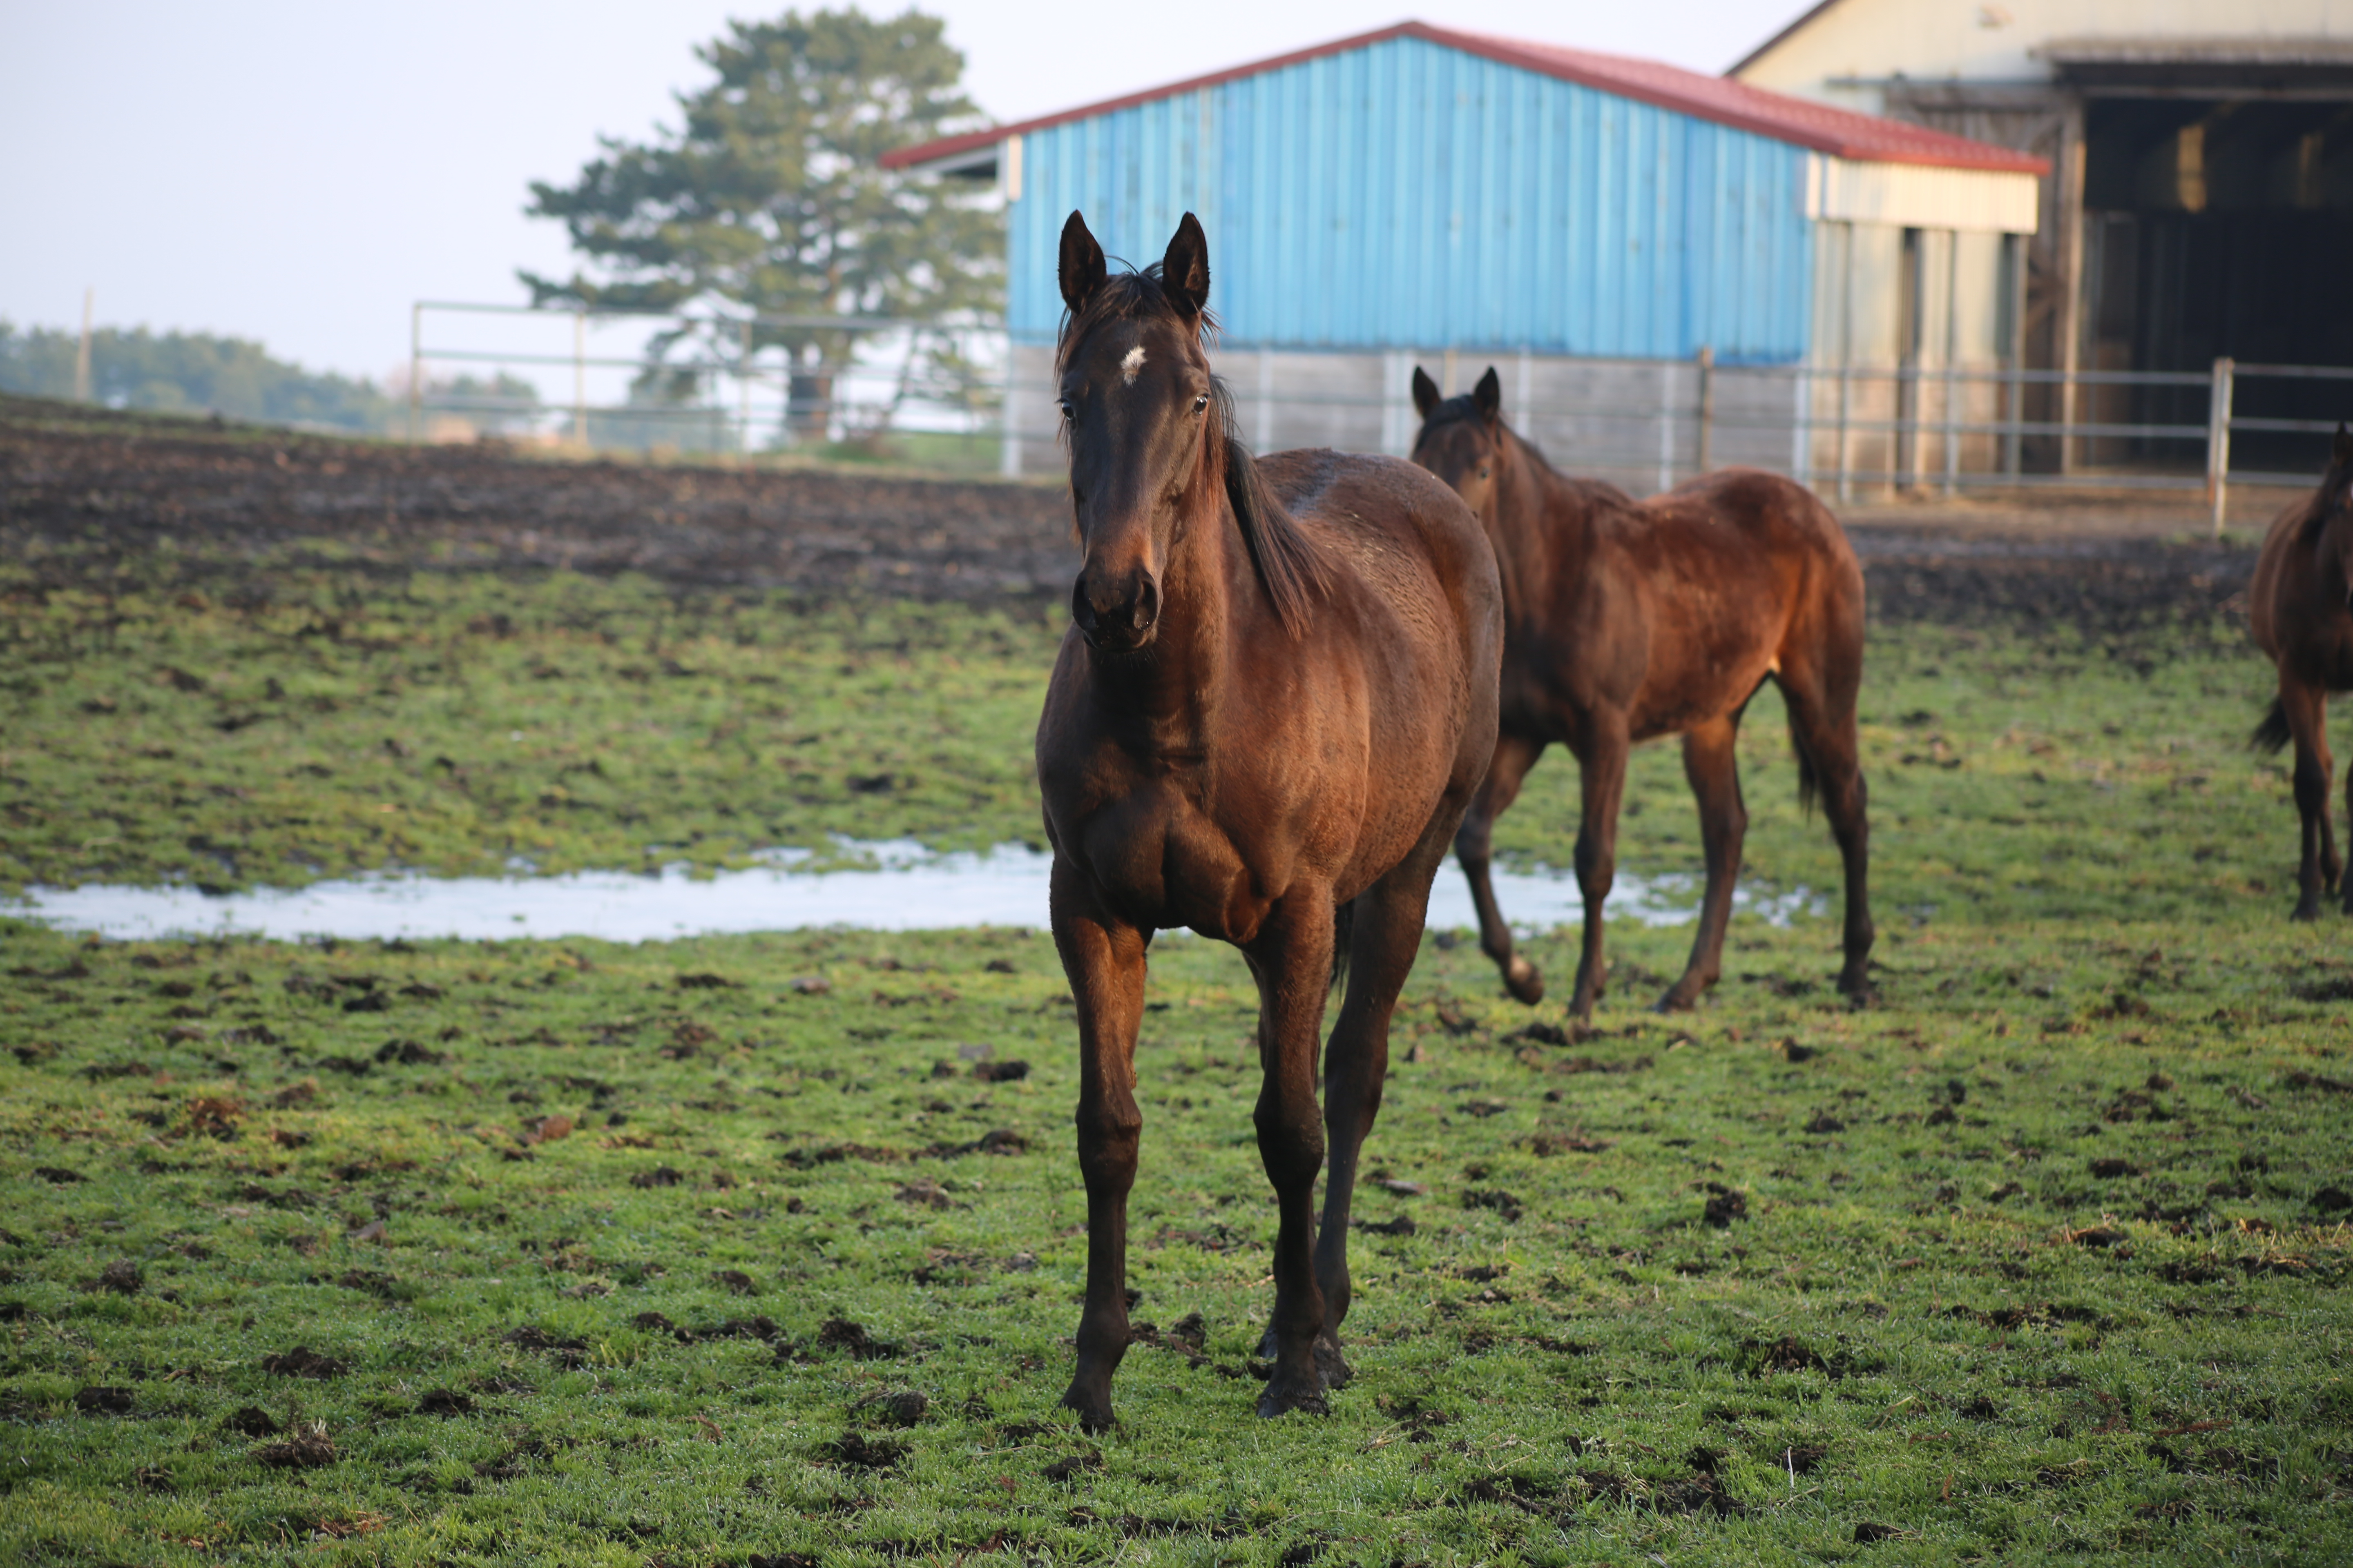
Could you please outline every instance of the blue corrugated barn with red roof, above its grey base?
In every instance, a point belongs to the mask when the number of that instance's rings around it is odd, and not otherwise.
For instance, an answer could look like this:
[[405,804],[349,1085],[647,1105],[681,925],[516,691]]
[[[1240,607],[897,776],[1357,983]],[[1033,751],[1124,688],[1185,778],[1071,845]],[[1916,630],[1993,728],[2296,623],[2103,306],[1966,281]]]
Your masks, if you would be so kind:
[[1016,346],[1049,343],[1061,320],[1073,209],[1134,266],[1195,212],[1228,346],[1706,346],[1718,364],[1819,353],[1826,223],[1998,230],[2024,212],[2031,230],[2040,172],[1722,78],[1426,24],[885,162],[995,181]]

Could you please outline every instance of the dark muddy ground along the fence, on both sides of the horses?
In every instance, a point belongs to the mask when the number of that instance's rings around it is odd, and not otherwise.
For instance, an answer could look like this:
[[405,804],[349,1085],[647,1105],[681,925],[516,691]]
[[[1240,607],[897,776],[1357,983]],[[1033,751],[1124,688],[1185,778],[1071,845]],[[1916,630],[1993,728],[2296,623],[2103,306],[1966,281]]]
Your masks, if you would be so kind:
[[[2249,529],[2280,498],[2242,496]],[[2087,635],[2212,628],[2249,534],[2195,541],[2198,508],[2134,496],[1857,505],[1845,522],[1887,623],[2024,621]],[[193,581],[245,562],[355,569],[642,571],[680,588],[1059,595],[1064,489],[819,468],[565,463],[0,397],[0,552],[42,576]]]

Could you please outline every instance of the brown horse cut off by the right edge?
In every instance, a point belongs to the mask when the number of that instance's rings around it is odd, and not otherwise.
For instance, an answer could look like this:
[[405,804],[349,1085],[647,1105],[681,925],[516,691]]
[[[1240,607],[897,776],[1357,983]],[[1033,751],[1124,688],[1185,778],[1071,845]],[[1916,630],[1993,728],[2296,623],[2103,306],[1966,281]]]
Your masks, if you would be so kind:
[[[2264,536],[2247,588],[2254,646],[2280,670],[2280,696],[2254,731],[2264,750],[2297,743],[2297,816],[2304,818],[2304,865],[2297,870],[2297,919],[2318,919],[2320,898],[2344,863],[2329,827],[2327,701],[2353,691],[2353,433],[2337,425],[2320,489],[2280,512]],[[2353,771],[2346,773],[2353,804]],[[2353,884],[2344,910],[2353,914]]]

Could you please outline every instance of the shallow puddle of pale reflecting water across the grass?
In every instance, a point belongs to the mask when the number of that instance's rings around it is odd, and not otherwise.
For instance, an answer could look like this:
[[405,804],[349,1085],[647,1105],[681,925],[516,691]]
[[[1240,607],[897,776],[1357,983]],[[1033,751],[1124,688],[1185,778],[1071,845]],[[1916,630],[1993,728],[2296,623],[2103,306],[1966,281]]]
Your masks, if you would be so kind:
[[[682,867],[659,875],[560,877],[393,872],[224,896],[191,886],[35,886],[19,905],[0,907],[61,931],[96,931],[118,940],[238,933],[278,940],[586,936],[645,943],[807,926],[946,931],[1047,924],[1052,856],[1021,844],[939,856],[908,839],[845,842],[826,865],[840,865],[842,858],[866,860],[873,870],[809,870],[809,851],[788,849],[767,856],[767,865],[711,877],[689,877]],[[1565,872],[1497,872],[1494,891],[1520,931],[1574,926],[1584,919],[1577,882]],[[1609,917],[1673,926],[1694,919],[1697,903],[1694,877],[1645,882],[1621,875],[1609,893]],[[1734,905],[1788,924],[1795,912],[1819,912],[1821,900],[1805,889],[1755,898],[1739,891]],[[1478,926],[1468,886],[1452,858],[1431,891],[1428,924],[1440,931]]]

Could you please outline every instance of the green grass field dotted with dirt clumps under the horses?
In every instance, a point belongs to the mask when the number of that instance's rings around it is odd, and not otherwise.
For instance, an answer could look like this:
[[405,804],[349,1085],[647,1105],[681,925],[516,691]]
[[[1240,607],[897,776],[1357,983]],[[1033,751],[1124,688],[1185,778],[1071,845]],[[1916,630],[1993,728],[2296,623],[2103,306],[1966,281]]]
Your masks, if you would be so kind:
[[[1038,835],[1042,611],[266,581],[0,585],[7,886]],[[1657,1018],[1689,933],[1619,924],[1558,1044],[1433,938],[1327,1420],[1252,1415],[1273,1206],[1212,943],[1155,950],[1155,1328],[1094,1441],[1054,1408],[1085,1204],[1045,938],[0,922],[0,1554],[2353,1554],[2353,950],[2285,919],[2264,670],[2202,625],[1882,630],[1871,670],[1880,1006],[1831,992],[1833,922],[1739,919],[1725,985]],[[1772,708],[1751,877],[1835,893]],[[1567,860],[1565,759],[1499,837]],[[1621,865],[1697,870],[1664,748]]]

